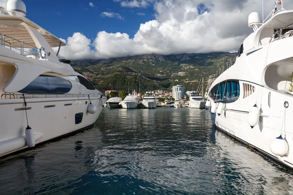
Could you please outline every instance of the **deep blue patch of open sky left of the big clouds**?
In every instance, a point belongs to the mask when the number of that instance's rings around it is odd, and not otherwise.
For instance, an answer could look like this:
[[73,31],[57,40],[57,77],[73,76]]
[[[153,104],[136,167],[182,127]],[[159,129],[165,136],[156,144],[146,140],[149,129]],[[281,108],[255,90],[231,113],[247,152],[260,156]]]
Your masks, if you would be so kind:
[[[155,19],[152,6],[128,8],[113,0],[23,1],[26,4],[28,19],[62,39],[67,39],[75,32],[95,39],[99,31],[127,33],[132,38],[141,23]],[[94,7],[89,5],[90,2]],[[103,12],[120,14],[123,19],[103,17]]]

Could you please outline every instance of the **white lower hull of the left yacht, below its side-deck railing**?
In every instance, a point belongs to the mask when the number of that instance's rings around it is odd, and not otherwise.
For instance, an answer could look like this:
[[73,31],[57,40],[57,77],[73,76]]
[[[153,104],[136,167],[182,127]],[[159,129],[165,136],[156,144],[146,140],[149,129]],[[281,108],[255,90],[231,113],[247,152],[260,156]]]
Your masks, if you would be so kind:
[[[26,102],[28,124],[39,144],[92,125],[102,111],[104,98],[91,98],[97,108],[94,114],[87,112],[88,98],[26,98]],[[23,99],[1,101],[0,124],[0,156],[27,148]]]

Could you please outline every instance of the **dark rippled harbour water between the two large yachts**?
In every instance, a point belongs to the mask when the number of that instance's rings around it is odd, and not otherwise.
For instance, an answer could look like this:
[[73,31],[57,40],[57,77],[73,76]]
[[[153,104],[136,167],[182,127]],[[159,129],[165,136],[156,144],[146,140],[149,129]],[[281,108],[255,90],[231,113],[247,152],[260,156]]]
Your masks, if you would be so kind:
[[292,171],[200,111],[103,108],[92,129],[0,159],[0,195],[293,194]]

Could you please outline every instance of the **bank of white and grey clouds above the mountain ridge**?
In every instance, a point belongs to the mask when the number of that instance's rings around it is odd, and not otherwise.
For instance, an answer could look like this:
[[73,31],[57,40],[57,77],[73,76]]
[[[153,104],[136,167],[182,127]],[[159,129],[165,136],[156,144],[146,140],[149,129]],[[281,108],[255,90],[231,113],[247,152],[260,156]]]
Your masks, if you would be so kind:
[[[284,4],[286,10],[293,9],[293,2]],[[272,11],[273,5],[274,0],[266,1],[265,17]],[[153,8],[155,20],[142,23],[133,38],[123,32],[101,31],[91,42],[79,33],[75,38],[67,39],[69,46],[65,50],[70,50],[64,54],[71,58],[102,59],[150,53],[237,51],[243,40],[253,32],[247,26],[249,14],[257,11],[262,15],[261,0],[225,0],[225,3],[222,0],[157,0],[153,1]],[[111,12],[101,15],[111,18],[120,16]],[[77,37],[87,40],[86,44],[83,43],[84,49],[79,44],[69,44],[69,39]],[[78,52],[72,52],[75,50]]]

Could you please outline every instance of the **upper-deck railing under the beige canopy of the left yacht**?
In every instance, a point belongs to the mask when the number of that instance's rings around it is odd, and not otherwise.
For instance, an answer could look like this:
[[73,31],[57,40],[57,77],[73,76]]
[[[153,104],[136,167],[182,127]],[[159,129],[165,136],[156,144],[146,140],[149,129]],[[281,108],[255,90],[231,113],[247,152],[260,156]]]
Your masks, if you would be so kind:
[[[19,53],[21,56],[27,56],[30,55],[30,58],[34,58],[34,59],[46,59],[46,56],[44,55],[43,58],[41,58],[41,52],[42,50],[31,45],[28,44],[26,42],[20,41],[18,39],[14,39],[12,37],[9,37],[7,35],[3,35],[0,33],[0,43],[1,46],[8,48],[10,50],[14,50],[15,52]],[[19,43],[20,47],[13,47],[11,45],[11,43],[8,40],[13,40],[14,43]]]

